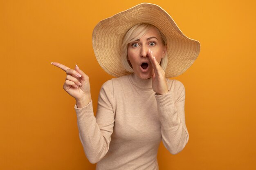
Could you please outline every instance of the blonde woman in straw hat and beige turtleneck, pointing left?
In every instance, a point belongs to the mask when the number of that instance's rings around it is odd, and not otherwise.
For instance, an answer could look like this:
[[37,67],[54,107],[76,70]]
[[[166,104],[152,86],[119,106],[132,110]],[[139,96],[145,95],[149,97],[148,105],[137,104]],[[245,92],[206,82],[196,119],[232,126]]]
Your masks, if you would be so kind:
[[186,145],[184,86],[166,79],[186,71],[200,51],[161,7],[143,3],[94,28],[94,53],[115,79],[101,87],[94,117],[88,76],[67,73],[63,86],[76,99],[79,137],[97,170],[157,170],[160,141],[172,154]]

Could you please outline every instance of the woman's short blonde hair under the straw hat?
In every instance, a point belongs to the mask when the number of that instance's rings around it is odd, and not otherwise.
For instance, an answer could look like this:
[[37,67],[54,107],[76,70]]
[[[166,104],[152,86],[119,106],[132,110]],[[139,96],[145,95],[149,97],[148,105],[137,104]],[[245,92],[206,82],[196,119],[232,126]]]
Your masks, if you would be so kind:
[[[155,26],[153,26],[151,24],[137,24],[137,25],[133,26],[124,36],[123,43],[121,46],[121,62],[124,65],[124,68],[126,69],[126,71],[133,73],[132,65],[130,64],[130,62],[127,59],[128,44],[132,41],[135,41],[135,40],[138,40],[139,38],[141,38],[152,27],[155,27]],[[167,45],[166,38],[165,38],[164,34],[159,29],[157,29],[157,32],[159,33],[159,36],[162,38],[162,43],[164,44],[164,46]],[[164,58],[162,58],[162,60],[160,62],[160,66],[163,68],[163,70],[166,69],[167,62],[168,62],[168,55],[166,52]]]

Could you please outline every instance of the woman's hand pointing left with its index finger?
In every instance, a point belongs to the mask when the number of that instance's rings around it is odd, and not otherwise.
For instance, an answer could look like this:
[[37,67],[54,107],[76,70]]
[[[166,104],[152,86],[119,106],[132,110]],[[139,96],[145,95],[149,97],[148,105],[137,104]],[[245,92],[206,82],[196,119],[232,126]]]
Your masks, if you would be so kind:
[[92,100],[90,92],[89,77],[76,65],[75,69],[71,69],[58,62],[51,63],[66,72],[66,81],[63,89],[72,97],[76,99],[78,108],[84,107]]

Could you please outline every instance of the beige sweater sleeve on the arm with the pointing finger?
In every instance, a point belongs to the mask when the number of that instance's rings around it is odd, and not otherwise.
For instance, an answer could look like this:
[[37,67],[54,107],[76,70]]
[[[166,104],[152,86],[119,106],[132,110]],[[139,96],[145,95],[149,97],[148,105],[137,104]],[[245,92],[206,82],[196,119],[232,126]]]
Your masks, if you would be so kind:
[[84,108],[75,106],[79,137],[85,155],[91,163],[97,163],[108,152],[115,122],[112,101],[113,87],[110,80],[101,87],[96,117],[94,117],[92,101]]

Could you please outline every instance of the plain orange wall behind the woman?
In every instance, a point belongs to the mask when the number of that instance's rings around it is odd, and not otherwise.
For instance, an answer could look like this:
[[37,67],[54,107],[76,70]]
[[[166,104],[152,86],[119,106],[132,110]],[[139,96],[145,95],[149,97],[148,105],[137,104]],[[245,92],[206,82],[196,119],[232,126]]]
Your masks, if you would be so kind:
[[[121,0],[0,0],[1,170],[93,170],[79,141],[75,101],[65,73],[90,76],[94,110],[105,73],[92,49],[104,18],[139,4]],[[180,80],[186,88],[189,143],[171,155],[161,143],[160,170],[256,169],[256,2],[148,0],[163,7],[201,52]]]

